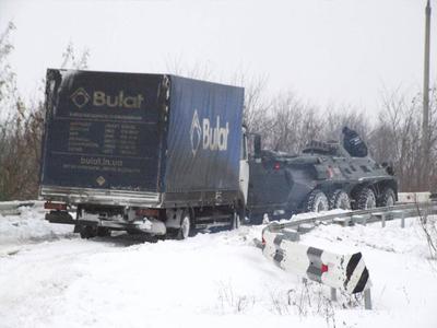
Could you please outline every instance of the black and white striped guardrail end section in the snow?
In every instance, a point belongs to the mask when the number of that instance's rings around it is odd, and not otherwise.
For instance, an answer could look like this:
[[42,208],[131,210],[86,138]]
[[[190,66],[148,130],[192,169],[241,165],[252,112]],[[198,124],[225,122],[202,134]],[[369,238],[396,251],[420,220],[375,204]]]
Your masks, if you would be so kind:
[[273,223],[262,232],[262,253],[281,269],[330,286],[333,301],[336,290],[364,293],[365,308],[371,309],[369,271],[361,253],[340,255],[296,242],[297,232]]

